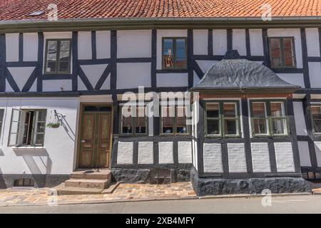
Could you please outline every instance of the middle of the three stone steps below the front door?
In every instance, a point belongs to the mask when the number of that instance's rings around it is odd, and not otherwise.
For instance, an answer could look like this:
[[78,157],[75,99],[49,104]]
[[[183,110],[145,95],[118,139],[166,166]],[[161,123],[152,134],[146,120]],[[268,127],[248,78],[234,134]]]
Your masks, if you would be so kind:
[[81,188],[96,188],[104,190],[110,180],[99,180],[99,179],[70,179],[66,180],[65,187],[81,187]]

